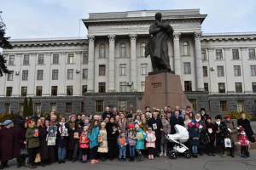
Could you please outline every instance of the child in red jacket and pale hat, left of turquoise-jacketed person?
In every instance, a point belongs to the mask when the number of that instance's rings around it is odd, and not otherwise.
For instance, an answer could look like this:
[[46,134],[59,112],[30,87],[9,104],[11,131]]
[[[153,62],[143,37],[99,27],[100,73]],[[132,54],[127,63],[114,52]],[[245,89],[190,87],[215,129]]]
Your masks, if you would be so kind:
[[89,144],[90,144],[90,140],[88,139],[88,135],[87,135],[87,129],[88,129],[88,126],[84,126],[84,131],[83,133],[81,133],[81,136],[79,139],[79,148],[81,148],[81,151],[82,151],[83,163],[87,162]]

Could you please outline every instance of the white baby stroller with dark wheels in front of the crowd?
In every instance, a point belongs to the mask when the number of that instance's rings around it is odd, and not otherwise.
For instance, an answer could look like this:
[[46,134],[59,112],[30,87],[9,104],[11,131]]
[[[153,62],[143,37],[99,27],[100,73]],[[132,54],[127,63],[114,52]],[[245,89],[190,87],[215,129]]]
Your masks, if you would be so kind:
[[166,139],[172,143],[175,143],[172,150],[168,150],[167,154],[171,159],[177,159],[177,154],[184,154],[185,158],[191,158],[191,152],[185,143],[189,139],[189,132],[187,129],[181,125],[175,125],[175,134],[166,134]]

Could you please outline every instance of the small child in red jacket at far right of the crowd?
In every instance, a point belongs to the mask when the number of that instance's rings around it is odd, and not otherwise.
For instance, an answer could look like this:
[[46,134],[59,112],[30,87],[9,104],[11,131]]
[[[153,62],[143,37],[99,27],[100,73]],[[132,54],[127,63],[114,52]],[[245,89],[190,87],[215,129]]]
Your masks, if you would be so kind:
[[243,127],[239,127],[240,135],[238,136],[238,144],[241,146],[241,157],[247,158],[247,145],[249,145],[249,140]]

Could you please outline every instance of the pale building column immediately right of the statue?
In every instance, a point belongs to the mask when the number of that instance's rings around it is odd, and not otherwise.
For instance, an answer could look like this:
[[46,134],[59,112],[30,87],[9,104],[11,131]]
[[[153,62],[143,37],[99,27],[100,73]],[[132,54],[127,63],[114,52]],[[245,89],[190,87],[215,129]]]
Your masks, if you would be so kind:
[[174,48],[174,71],[175,74],[181,76],[181,62],[180,62],[180,48],[179,48],[179,37],[180,32],[173,33],[173,48]]

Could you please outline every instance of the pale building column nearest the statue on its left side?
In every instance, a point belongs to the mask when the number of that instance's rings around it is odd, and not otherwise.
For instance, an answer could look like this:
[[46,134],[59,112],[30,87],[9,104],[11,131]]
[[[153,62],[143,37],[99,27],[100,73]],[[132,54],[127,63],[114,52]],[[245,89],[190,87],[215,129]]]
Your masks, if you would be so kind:
[[136,54],[136,40],[137,34],[130,34],[131,39],[131,83],[133,88],[131,91],[137,91],[137,54]]

